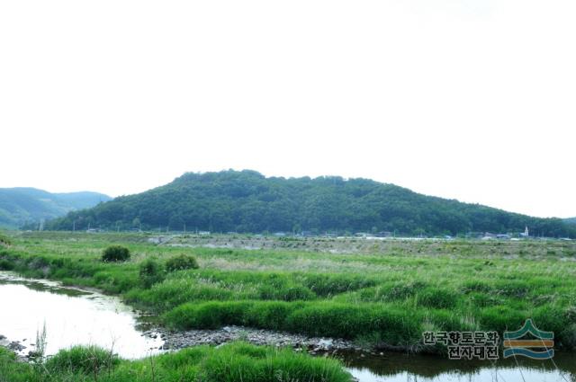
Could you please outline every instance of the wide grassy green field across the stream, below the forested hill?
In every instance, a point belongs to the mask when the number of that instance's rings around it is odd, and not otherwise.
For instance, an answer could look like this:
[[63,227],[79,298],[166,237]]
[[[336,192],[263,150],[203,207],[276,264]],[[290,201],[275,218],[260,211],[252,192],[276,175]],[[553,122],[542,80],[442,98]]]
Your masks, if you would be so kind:
[[[144,234],[24,233],[0,248],[0,268],[118,294],[176,330],[238,324],[434,351],[422,349],[422,332],[502,333],[533,318],[554,331],[557,349],[576,350],[576,243],[386,240],[367,253],[329,253],[307,251],[311,240],[245,250],[156,245]],[[327,248],[338,240],[318,239]],[[112,244],[129,248],[130,260],[103,262]],[[199,268],[166,267],[183,255]],[[184,354],[205,352],[217,354]]]

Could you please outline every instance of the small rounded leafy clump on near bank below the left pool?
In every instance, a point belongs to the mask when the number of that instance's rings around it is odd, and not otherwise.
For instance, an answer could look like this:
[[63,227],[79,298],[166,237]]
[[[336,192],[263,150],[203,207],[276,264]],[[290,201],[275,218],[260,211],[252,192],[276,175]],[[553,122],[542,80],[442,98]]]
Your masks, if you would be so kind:
[[97,346],[74,346],[58,353],[46,361],[46,369],[54,373],[98,375],[120,363],[110,351]]

